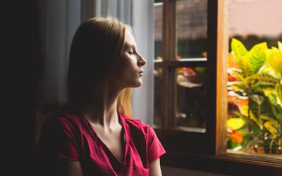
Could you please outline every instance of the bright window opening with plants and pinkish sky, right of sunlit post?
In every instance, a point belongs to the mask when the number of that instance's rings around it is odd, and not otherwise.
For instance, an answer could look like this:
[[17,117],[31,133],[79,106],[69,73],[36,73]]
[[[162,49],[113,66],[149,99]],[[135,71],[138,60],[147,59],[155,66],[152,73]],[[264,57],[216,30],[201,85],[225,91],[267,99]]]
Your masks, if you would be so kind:
[[282,158],[281,6],[228,1],[228,152]]

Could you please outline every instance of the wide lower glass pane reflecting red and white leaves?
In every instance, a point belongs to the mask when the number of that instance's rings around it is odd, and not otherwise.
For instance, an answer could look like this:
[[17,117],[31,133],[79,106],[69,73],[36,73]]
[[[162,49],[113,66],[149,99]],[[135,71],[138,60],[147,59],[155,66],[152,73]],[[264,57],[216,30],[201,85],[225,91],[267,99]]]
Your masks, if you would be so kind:
[[176,127],[193,132],[205,132],[205,68],[176,68]]

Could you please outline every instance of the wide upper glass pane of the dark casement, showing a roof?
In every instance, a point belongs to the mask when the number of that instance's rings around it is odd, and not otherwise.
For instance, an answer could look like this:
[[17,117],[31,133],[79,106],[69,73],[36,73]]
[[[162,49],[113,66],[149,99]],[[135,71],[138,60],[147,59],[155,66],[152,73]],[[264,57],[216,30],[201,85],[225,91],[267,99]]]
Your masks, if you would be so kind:
[[176,1],[177,59],[203,58],[207,51],[207,0]]

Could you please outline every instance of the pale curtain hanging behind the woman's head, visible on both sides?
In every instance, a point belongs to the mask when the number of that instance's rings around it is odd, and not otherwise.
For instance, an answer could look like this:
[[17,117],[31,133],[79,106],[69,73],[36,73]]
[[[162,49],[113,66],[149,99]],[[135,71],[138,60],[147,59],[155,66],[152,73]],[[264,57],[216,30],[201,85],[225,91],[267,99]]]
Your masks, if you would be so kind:
[[133,90],[133,118],[152,125],[154,0],[39,0],[39,5],[43,64],[37,101],[67,101],[68,53],[75,30],[88,18],[111,16],[133,26],[137,48],[147,60],[143,85]]

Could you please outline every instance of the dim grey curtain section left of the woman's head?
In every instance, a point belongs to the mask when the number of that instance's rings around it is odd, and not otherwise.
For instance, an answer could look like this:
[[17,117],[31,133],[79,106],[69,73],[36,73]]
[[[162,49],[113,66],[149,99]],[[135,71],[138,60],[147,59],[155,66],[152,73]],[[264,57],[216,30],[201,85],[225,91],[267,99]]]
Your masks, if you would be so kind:
[[41,79],[37,101],[67,101],[68,52],[80,25],[80,1],[39,0]]

